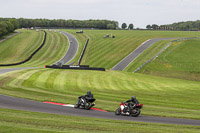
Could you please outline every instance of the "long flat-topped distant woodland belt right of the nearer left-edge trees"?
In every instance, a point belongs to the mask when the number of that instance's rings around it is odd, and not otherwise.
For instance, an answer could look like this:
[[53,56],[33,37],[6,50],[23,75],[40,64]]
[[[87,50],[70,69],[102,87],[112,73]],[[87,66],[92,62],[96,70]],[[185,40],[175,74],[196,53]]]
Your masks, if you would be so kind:
[[64,20],[64,19],[17,19],[20,28],[30,27],[62,27],[62,28],[96,28],[96,29],[116,29],[117,21],[110,20]]

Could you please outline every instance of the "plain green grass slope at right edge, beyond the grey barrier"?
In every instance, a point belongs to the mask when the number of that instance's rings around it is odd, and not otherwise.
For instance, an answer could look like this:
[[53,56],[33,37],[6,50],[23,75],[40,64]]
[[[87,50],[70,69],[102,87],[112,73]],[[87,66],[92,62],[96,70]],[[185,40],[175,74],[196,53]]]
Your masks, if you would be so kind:
[[141,73],[200,81],[200,40],[174,42]]

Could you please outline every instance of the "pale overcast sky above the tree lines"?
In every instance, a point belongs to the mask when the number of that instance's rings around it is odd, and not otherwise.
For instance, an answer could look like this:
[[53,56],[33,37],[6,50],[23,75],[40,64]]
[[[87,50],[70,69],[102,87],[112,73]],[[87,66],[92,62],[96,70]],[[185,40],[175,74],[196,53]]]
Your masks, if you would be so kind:
[[0,17],[108,19],[145,28],[199,20],[200,0],[0,0]]

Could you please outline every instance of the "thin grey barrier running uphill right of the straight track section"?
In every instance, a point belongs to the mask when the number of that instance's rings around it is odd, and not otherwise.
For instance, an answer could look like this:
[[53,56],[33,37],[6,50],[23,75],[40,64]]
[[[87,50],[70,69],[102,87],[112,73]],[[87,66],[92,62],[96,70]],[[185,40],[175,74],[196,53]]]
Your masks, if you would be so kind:
[[160,50],[160,52],[158,52],[154,57],[152,57],[150,60],[148,60],[147,62],[145,62],[144,64],[142,64],[140,67],[138,67],[134,73],[136,73],[137,71],[139,71],[142,67],[144,67],[146,64],[148,64],[149,62],[151,62],[152,60],[154,60],[155,58],[157,58],[165,49],[167,49],[171,43],[173,42],[178,42],[178,41],[181,41],[181,40],[189,40],[189,39],[200,39],[200,37],[187,37],[187,38],[180,38],[180,39],[177,39],[177,40],[173,40],[173,41],[170,41],[163,49]]

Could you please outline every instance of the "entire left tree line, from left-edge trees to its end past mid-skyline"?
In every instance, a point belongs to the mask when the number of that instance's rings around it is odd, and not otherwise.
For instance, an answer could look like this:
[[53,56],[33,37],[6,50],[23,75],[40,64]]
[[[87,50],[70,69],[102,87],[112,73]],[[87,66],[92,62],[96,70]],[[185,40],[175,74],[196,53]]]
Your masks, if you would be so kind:
[[31,27],[117,29],[118,22],[111,20],[0,18],[0,36],[13,32],[17,28]]

